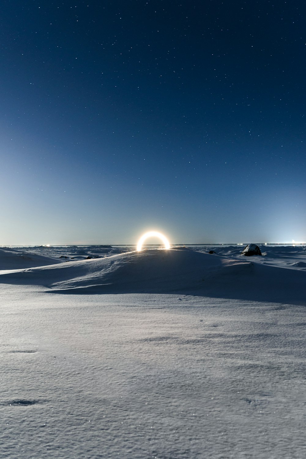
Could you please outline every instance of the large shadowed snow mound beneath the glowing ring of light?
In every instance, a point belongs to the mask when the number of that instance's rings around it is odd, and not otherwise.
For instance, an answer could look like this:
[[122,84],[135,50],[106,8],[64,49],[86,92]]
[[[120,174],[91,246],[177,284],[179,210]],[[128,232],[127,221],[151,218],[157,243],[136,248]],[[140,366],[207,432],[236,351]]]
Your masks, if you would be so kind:
[[184,248],[0,273],[0,283],[68,294],[179,293],[305,304],[304,270],[233,260]]

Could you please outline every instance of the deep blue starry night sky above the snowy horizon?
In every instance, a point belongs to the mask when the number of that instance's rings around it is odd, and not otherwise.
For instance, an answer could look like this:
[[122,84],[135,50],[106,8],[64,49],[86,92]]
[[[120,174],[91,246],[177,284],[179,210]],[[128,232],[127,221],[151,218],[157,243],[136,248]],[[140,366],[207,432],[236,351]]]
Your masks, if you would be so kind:
[[0,244],[306,241],[305,13],[2,0]]

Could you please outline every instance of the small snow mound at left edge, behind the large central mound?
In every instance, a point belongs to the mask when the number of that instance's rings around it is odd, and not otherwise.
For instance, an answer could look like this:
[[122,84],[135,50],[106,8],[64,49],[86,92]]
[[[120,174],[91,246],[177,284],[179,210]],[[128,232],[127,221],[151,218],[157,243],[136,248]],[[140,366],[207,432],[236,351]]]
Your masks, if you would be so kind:
[[20,252],[20,250],[8,247],[0,249],[0,270],[34,268],[57,263],[62,263],[62,261],[35,253]]

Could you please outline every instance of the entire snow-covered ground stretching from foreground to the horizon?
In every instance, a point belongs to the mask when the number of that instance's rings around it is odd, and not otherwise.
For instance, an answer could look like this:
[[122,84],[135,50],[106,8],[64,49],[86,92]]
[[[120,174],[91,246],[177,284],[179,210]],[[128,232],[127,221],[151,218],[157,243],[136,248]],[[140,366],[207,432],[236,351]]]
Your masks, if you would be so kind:
[[305,247],[242,249],[0,248],[0,457],[305,458]]

